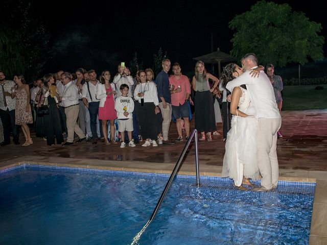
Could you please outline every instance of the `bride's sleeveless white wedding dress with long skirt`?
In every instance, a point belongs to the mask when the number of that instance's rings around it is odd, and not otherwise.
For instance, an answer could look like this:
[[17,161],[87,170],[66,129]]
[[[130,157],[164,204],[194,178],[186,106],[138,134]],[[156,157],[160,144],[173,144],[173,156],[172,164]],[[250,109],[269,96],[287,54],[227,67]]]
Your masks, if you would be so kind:
[[236,186],[241,186],[243,176],[252,180],[259,178],[259,166],[256,160],[256,135],[258,134],[258,119],[251,103],[249,92],[240,87],[239,110],[248,117],[233,115],[231,128],[227,133],[222,177],[233,179]]

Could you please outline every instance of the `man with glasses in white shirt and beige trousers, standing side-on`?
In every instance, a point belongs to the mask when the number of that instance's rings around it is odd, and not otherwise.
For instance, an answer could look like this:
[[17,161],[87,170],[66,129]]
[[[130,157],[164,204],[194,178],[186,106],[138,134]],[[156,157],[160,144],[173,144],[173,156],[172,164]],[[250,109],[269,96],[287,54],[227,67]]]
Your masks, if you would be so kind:
[[79,90],[72,82],[72,74],[64,72],[61,75],[61,81],[64,85],[61,97],[62,106],[65,108],[66,125],[67,125],[67,141],[62,146],[72,145],[74,143],[74,132],[80,137],[78,142],[85,140],[85,135],[77,124],[78,113],[80,110]]

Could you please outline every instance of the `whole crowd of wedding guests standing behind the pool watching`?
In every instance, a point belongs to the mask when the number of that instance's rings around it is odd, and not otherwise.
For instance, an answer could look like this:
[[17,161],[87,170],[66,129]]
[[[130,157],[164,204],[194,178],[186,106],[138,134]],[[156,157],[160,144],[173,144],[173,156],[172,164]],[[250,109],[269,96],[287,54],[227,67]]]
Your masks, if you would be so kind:
[[[11,133],[13,142],[20,144],[19,125],[25,136],[24,146],[33,144],[29,125],[48,145],[69,146],[74,140],[97,144],[99,139],[107,145],[120,141],[121,148],[134,147],[143,139],[144,147],[174,144],[190,136],[191,105],[195,105],[195,128],[201,133],[201,141],[212,141],[212,134],[219,134],[216,124],[222,122],[222,108],[225,140],[229,116],[224,107],[228,103],[219,79],[206,71],[202,61],[195,65],[192,82],[182,75],[180,64],[172,65],[171,76],[170,68],[170,60],[162,60],[162,70],[154,80],[151,68],[139,70],[133,77],[121,64],[112,81],[109,70],[98,77],[94,69],[78,68],[76,79],[60,70],[34,81],[31,89],[22,75],[14,76],[14,81],[5,80],[0,71],[0,145],[10,144]],[[271,66],[268,69],[271,74]],[[282,90],[280,77],[274,78],[273,70],[269,76],[272,83],[277,81],[274,88]],[[281,109],[280,91],[276,96]],[[174,141],[169,139],[172,118],[178,133]]]

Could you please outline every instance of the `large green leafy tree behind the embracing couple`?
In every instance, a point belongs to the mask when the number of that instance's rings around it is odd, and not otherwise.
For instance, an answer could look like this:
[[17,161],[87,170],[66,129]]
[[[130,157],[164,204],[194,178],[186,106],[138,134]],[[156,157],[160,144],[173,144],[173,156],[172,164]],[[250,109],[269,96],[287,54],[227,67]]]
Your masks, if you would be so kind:
[[288,4],[261,1],[229,22],[236,30],[231,42],[231,55],[239,59],[255,53],[261,64],[301,65],[311,58],[323,58],[324,37],[319,36],[321,24],[310,21],[302,12],[292,12]]

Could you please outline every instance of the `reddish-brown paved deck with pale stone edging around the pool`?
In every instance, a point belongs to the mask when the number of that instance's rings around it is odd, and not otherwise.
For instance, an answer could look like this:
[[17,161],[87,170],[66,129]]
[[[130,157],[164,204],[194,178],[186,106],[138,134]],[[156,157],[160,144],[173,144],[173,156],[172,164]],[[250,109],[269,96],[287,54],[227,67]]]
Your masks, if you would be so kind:
[[[194,127],[194,120],[191,128]],[[217,125],[222,134],[221,124]],[[282,112],[282,139],[277,141],[279,180],[316,182],[310,244],[327,244],[327,109]],[[174,123],[170,135],[177,138]],[[30,146],[6,145],[0,148],[0,170],[24,163],[100,168],[170,174],[185,145],[159,145],[121,149],[120,144],[94,145],[75,143],[63,148],[47,146],[41,138],[33,137]],[[21,134],[20,142],[24,142]],[[225,144],[221,135],[212,142],[199,142],[200,174],[221,176]],[[194,145],[183,159],[179,174],[195,175]]]

